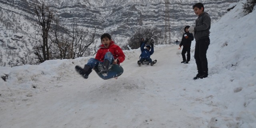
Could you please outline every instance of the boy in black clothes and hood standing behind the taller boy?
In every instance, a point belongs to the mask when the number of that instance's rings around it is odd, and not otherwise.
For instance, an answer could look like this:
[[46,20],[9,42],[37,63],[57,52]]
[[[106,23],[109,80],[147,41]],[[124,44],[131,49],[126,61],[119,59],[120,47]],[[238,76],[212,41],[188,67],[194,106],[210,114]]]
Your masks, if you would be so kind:
[[[190,26],[185,26],[184,31],[185,33],[182,36],[182,41],[180,42],[180,47],[183,46],[182,49],[182,59],[183,61],[181,63],[188,64],[190,61],[190,47],[191,47],[191,42],[194,40],[194,36],[192,33],[189,33],[189,27]],[[187,59],[186,59],[186,54],[187,52]]]

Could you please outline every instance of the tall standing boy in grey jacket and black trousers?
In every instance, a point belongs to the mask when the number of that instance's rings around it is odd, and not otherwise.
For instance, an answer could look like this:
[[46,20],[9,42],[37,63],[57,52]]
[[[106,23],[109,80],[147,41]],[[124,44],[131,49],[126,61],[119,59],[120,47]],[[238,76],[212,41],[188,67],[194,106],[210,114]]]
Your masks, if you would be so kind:
[[211,18],[204,12],[204,5],[196,3],[193,9],[198,18],[195,20],[195,27],[190,27],[189,32],[194,33],[195,37],[195,62],[198,74],[193,78],[206,78],[208,76],[208,62],[206,52],[210,44],[209,34],[211,28]]

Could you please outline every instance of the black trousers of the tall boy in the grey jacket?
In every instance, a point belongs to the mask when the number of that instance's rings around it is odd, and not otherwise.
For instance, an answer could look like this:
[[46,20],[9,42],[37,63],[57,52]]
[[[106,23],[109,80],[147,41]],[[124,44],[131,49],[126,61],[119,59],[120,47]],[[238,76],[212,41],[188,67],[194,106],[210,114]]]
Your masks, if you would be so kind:
[[208,74],[208,62],[206,58],[206,52],[209,44],[209,37],[195,41],[195,63],[197,65],[197,71],[199,74]]

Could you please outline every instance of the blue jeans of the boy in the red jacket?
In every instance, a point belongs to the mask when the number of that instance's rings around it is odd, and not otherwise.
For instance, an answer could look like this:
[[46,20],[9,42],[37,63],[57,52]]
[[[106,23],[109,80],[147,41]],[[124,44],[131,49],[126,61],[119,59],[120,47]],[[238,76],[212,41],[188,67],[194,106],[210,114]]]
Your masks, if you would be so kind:
[[[114,61],[114,56],[112,55],[111,52],[107,52],[104,55],[104,60],[105,59],[107,59],[110,62],[110,64],[112,64],[112,62]],[[94,68],[95,66],[98,66],[99,63],[103,63],[103,62],[100,62],[99,60],[97,60],[95,58],[90,58],[86,65],[90,66],[91,68]]]

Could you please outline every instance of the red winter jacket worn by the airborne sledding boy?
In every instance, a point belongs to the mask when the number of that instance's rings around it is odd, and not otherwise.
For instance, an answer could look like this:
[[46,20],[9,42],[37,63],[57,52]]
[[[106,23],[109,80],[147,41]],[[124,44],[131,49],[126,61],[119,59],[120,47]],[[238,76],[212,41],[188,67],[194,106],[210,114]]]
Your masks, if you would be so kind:
[[104,62],[104,56],[107,52],[111,52],[114,59],[118,59],[118,64],[125,61],[123,50],[118,45],[115,45],[113,41],[109,44],[109,48],[106,48],[103,44],[100,45],[100,49],[98,50],[95,59]]

